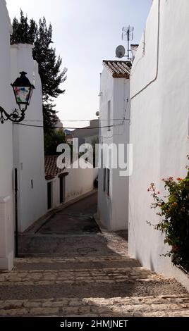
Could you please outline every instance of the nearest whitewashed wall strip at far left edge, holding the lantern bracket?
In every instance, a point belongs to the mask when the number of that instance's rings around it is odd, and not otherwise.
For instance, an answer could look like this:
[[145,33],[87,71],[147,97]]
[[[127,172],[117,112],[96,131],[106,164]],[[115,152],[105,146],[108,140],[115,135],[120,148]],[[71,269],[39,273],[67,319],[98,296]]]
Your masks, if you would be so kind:
[[[13,109],[10,59],[11,22],[0,0],[0,106]],[[15,106],[15,105],[14,105]],[[13,140],[12,123],[0,123],[0,269],[13,267]]]

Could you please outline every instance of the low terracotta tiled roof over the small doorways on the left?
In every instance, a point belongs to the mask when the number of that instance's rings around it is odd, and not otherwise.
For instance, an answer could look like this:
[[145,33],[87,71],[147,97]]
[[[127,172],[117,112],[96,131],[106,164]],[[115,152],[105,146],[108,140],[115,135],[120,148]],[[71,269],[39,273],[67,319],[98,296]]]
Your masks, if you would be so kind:
[[45,179],[52,180],[57,175],[61,174],[64,169],[59,169],[56,166],[57,155],[44,157]]

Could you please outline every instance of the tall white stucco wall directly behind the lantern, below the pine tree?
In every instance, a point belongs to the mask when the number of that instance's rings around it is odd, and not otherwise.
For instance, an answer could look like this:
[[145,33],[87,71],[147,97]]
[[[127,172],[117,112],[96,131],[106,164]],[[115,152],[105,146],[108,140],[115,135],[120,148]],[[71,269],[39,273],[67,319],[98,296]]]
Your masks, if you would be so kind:
[[18,230],[23,232],[47,211],[43,128],[22,125],[43,124],[42,86],[37,62],[32,58],[32,45],[11,46],[12,80],[20,71],[25,71],[35,85],[25,121],[21,125],[13,124],[14,167],[18,168],[19,176]]

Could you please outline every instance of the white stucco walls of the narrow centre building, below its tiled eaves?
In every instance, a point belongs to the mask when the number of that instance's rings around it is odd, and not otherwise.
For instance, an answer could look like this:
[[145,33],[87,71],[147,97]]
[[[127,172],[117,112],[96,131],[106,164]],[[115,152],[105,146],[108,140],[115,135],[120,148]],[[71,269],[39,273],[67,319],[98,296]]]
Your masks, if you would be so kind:
[[[130,87],[129,80],[124,78],[113,78],[106,68],[101,75],[100,83],[100,126],[114,125],[108,130],[107,127],[100,129],[99,142],[110,145],[112,143],[126,144],[129,142],[129,121],[116,120],[118,118],[129,118]],[[111,101],[111,121],[108,123],[108,101]],[[116,156],[114,155],[114,158]],[[107,164],[106,155],[104,165]],[[99,169],[98,189],[98,217],[102,225],[110,231],[124,230],[128,228],[128,177],[120,177],[120,168],[110,168],[110,192],[106,195],[103,189],[104,169]]]

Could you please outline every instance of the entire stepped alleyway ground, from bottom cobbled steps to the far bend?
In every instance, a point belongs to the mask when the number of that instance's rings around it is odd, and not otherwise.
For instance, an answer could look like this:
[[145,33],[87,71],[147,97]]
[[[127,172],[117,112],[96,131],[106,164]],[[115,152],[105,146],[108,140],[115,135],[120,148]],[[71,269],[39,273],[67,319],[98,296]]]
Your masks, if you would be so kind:
[[[0,316],[188,316],[189,294],[127,254],[126,233],[101,233],[97,194],[20,237],[11,273],[0,273]],[[34,230],[35,229],[35,230]]]

